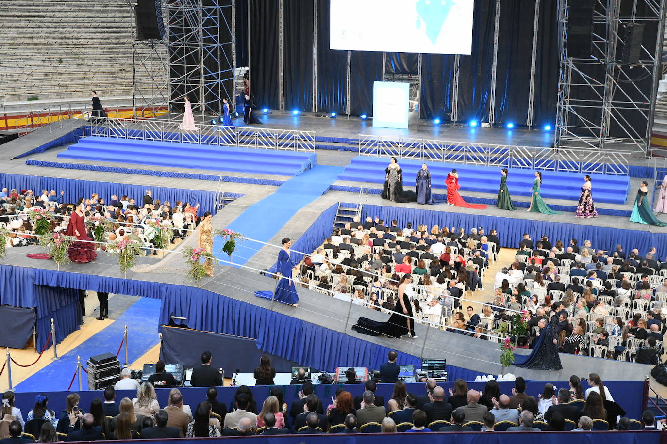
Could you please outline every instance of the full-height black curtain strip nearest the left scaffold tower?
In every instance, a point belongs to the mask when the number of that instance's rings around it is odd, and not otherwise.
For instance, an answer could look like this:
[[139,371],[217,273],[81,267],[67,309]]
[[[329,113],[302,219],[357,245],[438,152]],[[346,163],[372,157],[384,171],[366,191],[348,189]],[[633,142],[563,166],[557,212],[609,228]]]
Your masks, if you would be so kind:
[[249,2],[250,93],[255,107],[277,109],[279,5],[277,0]]

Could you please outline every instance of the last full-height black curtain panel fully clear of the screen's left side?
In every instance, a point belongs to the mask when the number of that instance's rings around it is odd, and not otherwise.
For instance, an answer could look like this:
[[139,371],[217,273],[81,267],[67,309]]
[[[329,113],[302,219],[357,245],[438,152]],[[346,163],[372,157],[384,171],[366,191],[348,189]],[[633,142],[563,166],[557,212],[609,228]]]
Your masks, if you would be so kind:
[[313,109],[313,13],[313,0],[283,3],[285,109],[288,110]]

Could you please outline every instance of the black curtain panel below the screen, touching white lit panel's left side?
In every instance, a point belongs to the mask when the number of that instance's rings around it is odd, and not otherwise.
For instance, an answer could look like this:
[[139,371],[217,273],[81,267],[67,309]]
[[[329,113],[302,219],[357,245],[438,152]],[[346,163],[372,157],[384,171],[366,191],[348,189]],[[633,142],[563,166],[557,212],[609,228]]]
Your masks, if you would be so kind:
[[352,51],[350,114],[373,114],[373,82],[382,81],[382,53]]

